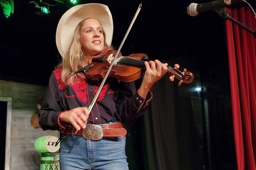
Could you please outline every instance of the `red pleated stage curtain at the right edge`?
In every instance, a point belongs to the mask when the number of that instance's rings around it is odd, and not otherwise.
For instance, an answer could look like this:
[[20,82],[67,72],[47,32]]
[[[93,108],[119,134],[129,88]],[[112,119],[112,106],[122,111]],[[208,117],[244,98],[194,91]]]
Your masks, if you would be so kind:
[[[227,8],[231,17],[255,30],[250,8]],[[232,114],[238,170],[256,165],[256,39],[231,21],[226,21]]]

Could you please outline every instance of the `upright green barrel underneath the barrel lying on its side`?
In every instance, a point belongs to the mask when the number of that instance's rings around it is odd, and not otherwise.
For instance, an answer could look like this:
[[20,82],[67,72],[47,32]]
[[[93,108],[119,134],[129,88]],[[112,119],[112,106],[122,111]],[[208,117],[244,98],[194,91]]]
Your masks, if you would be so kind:
[[40,170],[60,170],[59,152],[41,153]]

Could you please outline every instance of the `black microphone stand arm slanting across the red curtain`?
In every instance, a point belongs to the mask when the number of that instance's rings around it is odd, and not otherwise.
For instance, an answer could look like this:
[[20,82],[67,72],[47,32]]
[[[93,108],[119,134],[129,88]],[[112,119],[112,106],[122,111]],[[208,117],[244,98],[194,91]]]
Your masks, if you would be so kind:
[[230,20],[232,23],[240,26],[242,29],[245,29],[245,31],[249,32],[250,34],[253,35],[254,38],[256,38],[256,31],[255,30],[252,30],[248,26],[245,26],[243,23],[240,23],[238,20],[235,20],[234,18],[230,17],[230,14],[225,11],[225,8],[221,9],[221,10],[215,9],[214,11],[217,14],[219,14],[219,16],[222,17],[222,19]]

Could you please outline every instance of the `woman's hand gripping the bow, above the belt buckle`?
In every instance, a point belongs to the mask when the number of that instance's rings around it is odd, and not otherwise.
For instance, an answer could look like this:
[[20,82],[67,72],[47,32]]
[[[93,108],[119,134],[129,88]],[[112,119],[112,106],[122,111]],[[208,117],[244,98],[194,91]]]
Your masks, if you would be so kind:
[[68,110],[59,116],[61,122],[71,123],[74,128],[79,131],[81,128],[84,129],[87,124],[89,117],[87,107],[76,107],[72,110]]

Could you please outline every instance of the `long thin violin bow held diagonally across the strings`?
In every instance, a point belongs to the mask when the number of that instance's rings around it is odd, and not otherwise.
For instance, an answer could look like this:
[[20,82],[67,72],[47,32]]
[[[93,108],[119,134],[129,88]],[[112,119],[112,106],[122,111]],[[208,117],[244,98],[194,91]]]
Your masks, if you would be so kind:
[[121,44],[120,44],[120,46],[119,46],[119,48],[118,48],[118,50],[117,50],[117,55],[115,55],[114,59],[112,60],[112,63],[111,63],[110,66],[109,66],[109,69],[108,69],[108,71],[107,71],[106,76],[105,76],[104,79],[102,80],[101,85],[100,85],[100,87],[99,87],[97,93],[95,94],[95,96],[94,96],[92,102],[91,102],[91,105],[88,107],[88,112],[89,112],[89,113],[91,112],[92,107],[94,106],[94,104],[95,104],[95,102],[96,102],[96,100],[97,100],[97,98],[98,98],[98,96],[99,96],[99,94],[100,94],[100,91],[101,91],[101,89],[102,89],[102,87],[103,87],[103,85],[104,85],[104,83],[105,83],[105,81],[106,81],[106,79],[107,79],[107,76],[108,76],[109,73],[110,73],[110,70],[111,70],[112,67],[113,67],[114,65],[116,65],[116,63],[117,63],[117,62],[116,62],[117,56],[118,56],[118,54],[119,54],[121,48],[123,47],[123,43],[124,43],[124,41],[126,40],[126,37],[128,36],[128,34],[129,34],[129,32],[130,32],[130,30],[131,30],[131,28],[132,28],[132,26],[133,26],[133,23],[135,22],[135,20],[136,20],[138,14],[139,14],[139,11],[140,11],[141,7],[142,7],[142,3],[139,4],[139,7],[138,7],[138,9],[137,9],[137,11],[136,11],[136,13],[135,13],[135,15],[134,15],[134,17],[133,17],[133,20],[132,20],[132,22],[131,22],[131,24],[130,24],[128,30],[126,31],[125,36],[123,37],[123,41],[121,42]]

